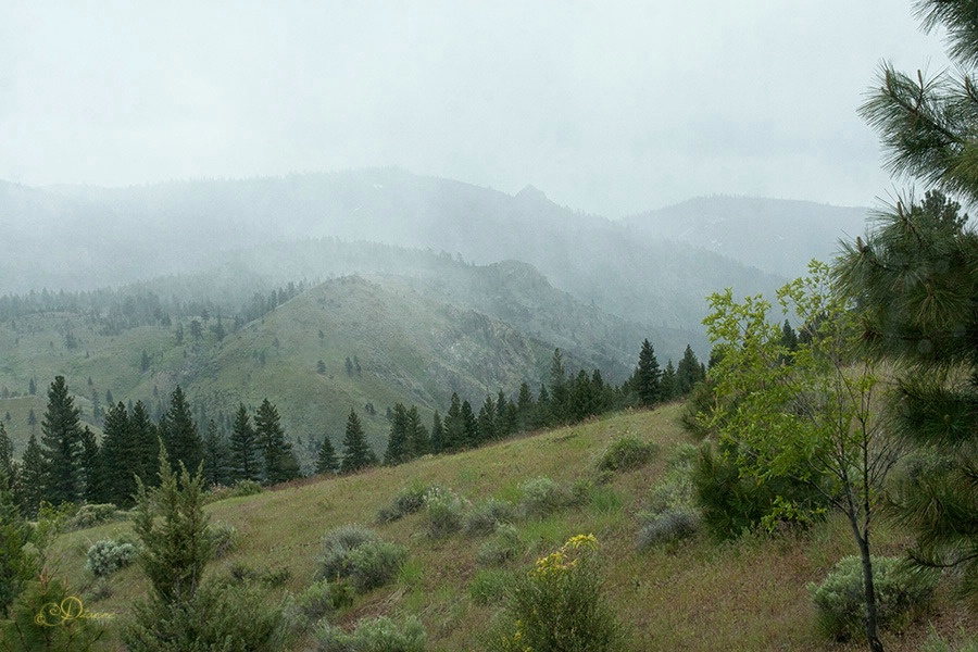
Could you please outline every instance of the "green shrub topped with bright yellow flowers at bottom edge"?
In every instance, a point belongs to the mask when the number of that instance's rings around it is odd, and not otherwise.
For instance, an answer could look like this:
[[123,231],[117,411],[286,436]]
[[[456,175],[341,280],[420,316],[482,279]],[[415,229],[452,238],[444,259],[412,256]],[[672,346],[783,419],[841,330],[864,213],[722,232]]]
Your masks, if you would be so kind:
[[563,548],[537,560],[511,586],[504,629],[489,641],[491,650],[561,650],[617,652],[624,634],[602,594],[593,536],[573,537]]

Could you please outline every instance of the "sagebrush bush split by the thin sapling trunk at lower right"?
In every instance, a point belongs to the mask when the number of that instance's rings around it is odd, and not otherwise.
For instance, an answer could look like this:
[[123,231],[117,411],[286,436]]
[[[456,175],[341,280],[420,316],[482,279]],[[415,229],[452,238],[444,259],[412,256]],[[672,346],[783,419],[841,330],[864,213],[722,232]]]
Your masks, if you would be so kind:
[[[898,557],[872,557],[872,562],[880,629],[901,625],[933,595],[935,573],[910,570]],[[810,584],[808,591],[818,624],[828,636],[837,640],[865,637],[866,600],[858,556],[840,560],[820,585]]]

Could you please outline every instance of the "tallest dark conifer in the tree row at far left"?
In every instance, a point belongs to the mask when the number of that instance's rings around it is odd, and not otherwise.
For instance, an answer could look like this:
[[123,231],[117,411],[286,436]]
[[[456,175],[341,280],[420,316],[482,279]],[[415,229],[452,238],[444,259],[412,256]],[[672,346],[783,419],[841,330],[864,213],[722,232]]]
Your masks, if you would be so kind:
[[64,376],[48,389],[48,409],[41,421],[45,500],[53,504],[77,502],[84,484],[80,472],[80,411],[68,394]]

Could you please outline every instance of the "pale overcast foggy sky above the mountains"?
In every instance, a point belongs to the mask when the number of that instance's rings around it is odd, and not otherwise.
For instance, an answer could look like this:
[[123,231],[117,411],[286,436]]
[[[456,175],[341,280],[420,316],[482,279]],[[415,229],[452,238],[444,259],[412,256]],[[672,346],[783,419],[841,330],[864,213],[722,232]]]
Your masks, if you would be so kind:
[[610,217],[702,195],[868,205],[910,2],[0,0],[0,179],[398,165]]

